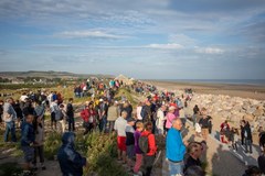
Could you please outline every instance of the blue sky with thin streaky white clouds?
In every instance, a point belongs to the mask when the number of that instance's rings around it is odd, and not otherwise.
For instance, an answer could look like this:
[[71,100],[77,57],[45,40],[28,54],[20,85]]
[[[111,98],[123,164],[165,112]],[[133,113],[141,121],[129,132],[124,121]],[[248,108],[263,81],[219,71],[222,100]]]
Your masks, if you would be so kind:
[[263,0],[0,0],[0,72],[264,79]]

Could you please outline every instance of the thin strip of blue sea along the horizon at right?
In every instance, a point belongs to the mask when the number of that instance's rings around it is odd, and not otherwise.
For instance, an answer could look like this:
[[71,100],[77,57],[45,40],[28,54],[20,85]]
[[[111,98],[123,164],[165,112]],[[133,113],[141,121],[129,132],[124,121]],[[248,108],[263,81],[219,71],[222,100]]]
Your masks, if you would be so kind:
[[202,84],[226,84],[226,85],[252,85],[265,86],[265,79],[160,79],[172,82],[202,82]]

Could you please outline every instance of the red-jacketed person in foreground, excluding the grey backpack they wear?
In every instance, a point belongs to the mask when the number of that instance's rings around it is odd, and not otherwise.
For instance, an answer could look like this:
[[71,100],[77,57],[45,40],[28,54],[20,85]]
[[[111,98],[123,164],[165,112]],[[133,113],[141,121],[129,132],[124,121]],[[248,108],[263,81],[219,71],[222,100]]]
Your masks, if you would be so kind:
[[157,144],[155,135],[152,132],[152,122],[147,122],[145,124],[145,131],[141,133],[144,136],[148,136],[148,148],[149,151],[144,154],[144,161],[142,161],[142,175],[144,176],[150,176],[152,164],[155,162],[155,156],[157,152]]

